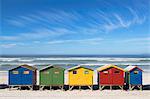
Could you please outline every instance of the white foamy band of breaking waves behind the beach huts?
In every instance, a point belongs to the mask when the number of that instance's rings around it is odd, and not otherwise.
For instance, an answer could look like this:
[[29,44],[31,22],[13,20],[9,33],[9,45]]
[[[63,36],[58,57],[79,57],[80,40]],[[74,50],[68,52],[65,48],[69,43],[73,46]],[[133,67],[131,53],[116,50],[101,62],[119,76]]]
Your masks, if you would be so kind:
[[75,64],[136,64],[150,65],[150,58],[117,58],[117,57],[1,57],[0,64],[53,64],[53,63],[75,63]]

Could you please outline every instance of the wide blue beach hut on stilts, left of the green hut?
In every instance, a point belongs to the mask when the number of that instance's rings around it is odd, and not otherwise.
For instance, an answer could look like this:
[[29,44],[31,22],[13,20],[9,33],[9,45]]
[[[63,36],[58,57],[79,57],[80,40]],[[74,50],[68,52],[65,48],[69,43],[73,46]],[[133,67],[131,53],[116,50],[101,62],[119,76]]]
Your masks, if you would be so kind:
[[9,86],[28,86],[30,89],[36,84],[36,68],[27,64],[9,70]]

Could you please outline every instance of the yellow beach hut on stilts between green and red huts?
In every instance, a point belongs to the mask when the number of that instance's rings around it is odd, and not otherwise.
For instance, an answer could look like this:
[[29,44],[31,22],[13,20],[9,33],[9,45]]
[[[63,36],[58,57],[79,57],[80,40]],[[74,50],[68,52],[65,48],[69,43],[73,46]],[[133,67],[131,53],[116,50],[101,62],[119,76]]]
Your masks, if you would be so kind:
[[88,86],[92,90],[93,69],[79,65],[69,68],[68,72],[69,90],[74,86],[78,86],[80,90],[82,86]]

